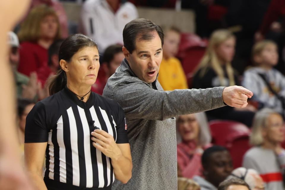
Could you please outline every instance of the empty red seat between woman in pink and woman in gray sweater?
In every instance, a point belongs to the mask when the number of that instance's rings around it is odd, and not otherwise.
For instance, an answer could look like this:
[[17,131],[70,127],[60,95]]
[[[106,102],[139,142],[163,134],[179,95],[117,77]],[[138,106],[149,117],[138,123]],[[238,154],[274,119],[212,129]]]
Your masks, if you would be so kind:
[[242,123],[226,120],[210,121],[213,143],[228,148],[234,168],[241,167],[243,155],[250,148],[250,129]]

